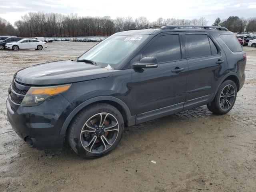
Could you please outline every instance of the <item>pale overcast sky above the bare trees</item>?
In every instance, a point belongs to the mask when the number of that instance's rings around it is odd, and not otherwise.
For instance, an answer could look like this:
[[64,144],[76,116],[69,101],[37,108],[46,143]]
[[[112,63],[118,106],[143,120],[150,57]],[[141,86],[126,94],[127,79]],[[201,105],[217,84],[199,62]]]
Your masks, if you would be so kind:
[[77,13],[78,16],[146,16],[150,22],[162,17],[208,20],[212,25],[217,17],[256,17],[256,0],[0,0],[0,17],[11,24],[28,12]]

